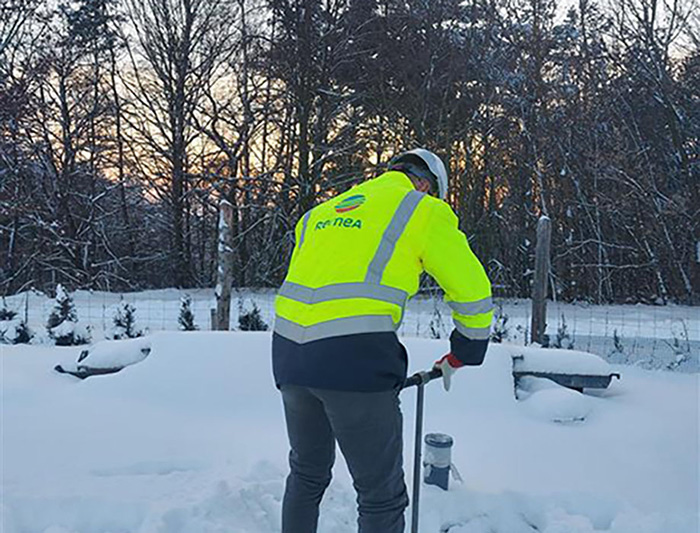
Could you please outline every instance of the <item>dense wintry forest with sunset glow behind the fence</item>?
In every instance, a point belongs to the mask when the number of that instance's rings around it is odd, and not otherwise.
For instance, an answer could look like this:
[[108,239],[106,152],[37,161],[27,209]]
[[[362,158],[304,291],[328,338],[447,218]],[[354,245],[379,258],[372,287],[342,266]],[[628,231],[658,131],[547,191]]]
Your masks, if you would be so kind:
[[277,287],[424,146],[496,294],[700,303],[696,0],[0,0],[0,294]]

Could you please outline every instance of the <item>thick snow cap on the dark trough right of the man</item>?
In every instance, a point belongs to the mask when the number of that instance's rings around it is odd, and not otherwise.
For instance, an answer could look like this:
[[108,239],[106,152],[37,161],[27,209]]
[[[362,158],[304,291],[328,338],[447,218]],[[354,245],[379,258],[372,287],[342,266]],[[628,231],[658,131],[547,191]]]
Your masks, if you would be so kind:
[[591,353],[529,347],[513,352],[513,371],[583,376],[607,376],[613,372],[610,364]]

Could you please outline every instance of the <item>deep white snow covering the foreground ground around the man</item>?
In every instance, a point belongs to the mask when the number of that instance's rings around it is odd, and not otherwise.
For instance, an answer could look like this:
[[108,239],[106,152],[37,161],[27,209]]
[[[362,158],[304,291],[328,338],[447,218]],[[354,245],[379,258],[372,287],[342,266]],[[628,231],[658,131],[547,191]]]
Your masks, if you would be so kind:
[[[80,347],[0,346],[3,533],[279,531],[287,441],[269,334],[149,342],[141,362],[85,381],[52,370]],[[447,349],[404,343],[413,370]],[[517,401],[523,351],[491,345],[449,393],[428,386],[425,432],[454,437],[464,481],[424,487],[420,531],[697,533],[698,375],[619,366],[605,391],[533,386]],[[410,482],[415,391],[402,398]],[[355,520],[339,455],[319,531]]]

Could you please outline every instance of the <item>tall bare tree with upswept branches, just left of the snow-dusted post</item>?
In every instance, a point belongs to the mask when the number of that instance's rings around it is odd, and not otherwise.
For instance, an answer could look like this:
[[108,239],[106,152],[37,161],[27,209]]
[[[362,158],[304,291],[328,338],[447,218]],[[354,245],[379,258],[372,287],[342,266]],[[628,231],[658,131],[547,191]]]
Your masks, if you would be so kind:
[[[138,43],[128,46],[132,71],[125,81],[133,104],[128,124],[137,135],[137,156],[148,158],[144,174],[171,208],[178,286],[193,278],[188,232],[194,170],[189,155],[198,136],[193,118],[206,87],[231,54],[236,12],[229,0],[127,1]],[[125,39],[128,43],[128,34]]]

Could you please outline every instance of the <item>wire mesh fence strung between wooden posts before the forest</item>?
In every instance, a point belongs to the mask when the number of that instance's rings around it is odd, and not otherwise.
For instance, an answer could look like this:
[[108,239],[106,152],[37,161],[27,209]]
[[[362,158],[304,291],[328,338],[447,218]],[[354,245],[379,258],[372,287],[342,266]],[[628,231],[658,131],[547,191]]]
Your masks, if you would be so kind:
[[[90,328],[93,341],[109,338],[121,302],[136,310],[137,326],[144,332],[176,331],[180,328],[182,298],[200,330],[211,329],[215,307],[213,289],[154,290],[136,293],[77,291],[72,295],[78,319]],[[271,290],[234,291],[231,329],[239,329],[242,315],[258,309],[262,321],[274,320]],[[33,343],[49,342],[46,322],[54,301],[40,292],[6,298],[6,305],[26,319],[34,332]],[[496,340],[526,345],[530,338],[529,300],[496,299],[493,332]],[[548,346],[600,355],[612,363],[645,368],[700,371],[700,308],[665,305],[586,305],[548,302]],[[399,335],[446,339],[452,331],[450,309],[439,296],[420,296],[408,304]]]

